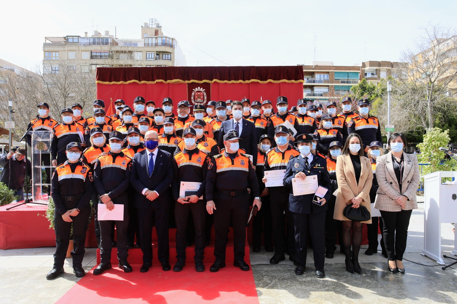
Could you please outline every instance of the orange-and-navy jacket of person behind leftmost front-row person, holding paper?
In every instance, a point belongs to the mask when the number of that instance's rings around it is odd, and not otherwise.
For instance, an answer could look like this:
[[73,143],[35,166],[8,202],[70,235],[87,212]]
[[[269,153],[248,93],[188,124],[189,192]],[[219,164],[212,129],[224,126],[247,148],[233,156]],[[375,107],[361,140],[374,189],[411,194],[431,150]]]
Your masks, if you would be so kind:
[[51,160],[57,160],[58,156],[67,158],[65,151],[67,144],[72,141],[81,142],[84,139],[82,124],[57,124],[54,127],[53,139],[51,140]]

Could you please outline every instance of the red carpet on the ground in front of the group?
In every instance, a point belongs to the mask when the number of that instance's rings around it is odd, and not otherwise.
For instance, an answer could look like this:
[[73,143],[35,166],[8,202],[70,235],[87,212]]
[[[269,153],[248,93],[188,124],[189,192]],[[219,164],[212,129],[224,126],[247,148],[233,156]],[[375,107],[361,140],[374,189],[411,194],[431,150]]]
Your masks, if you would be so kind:
[[131,273],[113,268],[95,276],[91,270],[56,303],[74,304],[75,299],[78,303],[97,304],[259,303],[252,272],[241,271],[232,263],[217,273],[209,271],[211,263],[205,263],[202,273],[195,271],[193,263],[187,263],[179,273],[164,272],[157,264],[149,272],[140,273],[141,265],[132,266]]

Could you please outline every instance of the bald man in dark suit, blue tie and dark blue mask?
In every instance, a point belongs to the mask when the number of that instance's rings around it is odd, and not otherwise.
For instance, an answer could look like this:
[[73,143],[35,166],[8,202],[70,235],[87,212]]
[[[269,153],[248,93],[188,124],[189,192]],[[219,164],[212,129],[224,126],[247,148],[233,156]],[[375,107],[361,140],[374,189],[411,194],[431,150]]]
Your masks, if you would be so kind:
[[164,271],[170,270],[168,225],[169,206],[165,192],[173,180],[172,155],[157,148],[159,135],[155,131],[144,134],[146,149],[133,157],[130,183],[135,188],[135,207],[138,210],[141,251],[145,273],[152,265],[153,216],[159,246],[158,258]]

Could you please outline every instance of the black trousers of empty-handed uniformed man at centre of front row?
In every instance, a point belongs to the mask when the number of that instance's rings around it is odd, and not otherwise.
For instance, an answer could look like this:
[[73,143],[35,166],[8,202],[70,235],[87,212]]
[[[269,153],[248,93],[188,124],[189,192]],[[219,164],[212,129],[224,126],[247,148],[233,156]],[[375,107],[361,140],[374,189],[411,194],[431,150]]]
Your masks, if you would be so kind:
[[244,242],[246,241],[246,222],[249,215],[249,194],[228,196],[214,190],[214,256],[216,261],[225,261],[227,234],[230,219],[233,224],[235,261],[244,260]]

